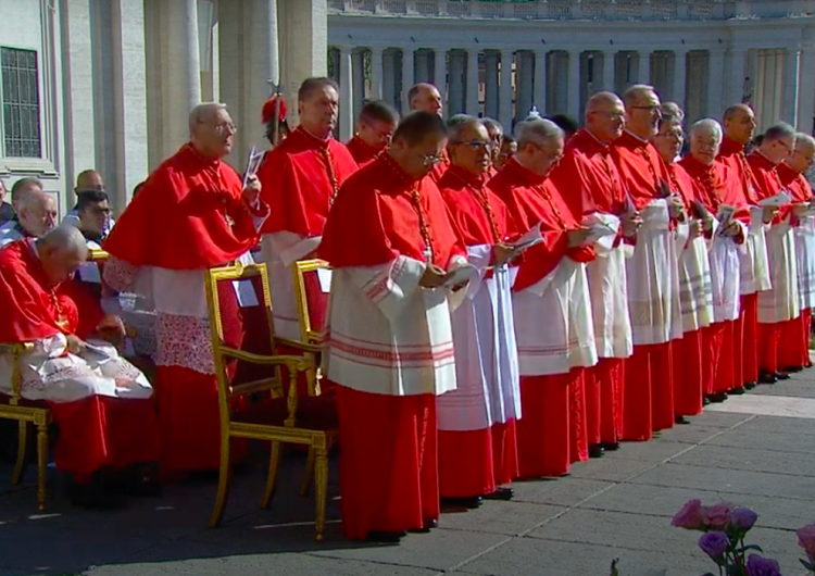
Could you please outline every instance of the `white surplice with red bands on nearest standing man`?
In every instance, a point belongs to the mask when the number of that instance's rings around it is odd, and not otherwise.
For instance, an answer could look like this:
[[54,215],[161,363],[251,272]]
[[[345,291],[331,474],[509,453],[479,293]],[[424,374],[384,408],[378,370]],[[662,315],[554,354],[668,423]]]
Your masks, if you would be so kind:
[[[454,256],[450,270],[465,262]],[[423,262],[402,255],[333,272],[323,353],[328,379],[389,396],[455,389],[453,298],[443,288],[419,287],[424,272]]]

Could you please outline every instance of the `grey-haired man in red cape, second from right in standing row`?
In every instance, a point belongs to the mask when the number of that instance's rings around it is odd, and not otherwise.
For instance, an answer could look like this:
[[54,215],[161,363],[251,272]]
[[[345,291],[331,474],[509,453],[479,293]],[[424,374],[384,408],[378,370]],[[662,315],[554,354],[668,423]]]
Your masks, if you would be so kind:
[[[757,183],[758,198],[767,200],[786,191],[778,175],[780,166],[795,146],[795,129],[788,124],[777,124],[764,133],[761,145],[749,156]],[[777,204],[776,204],[777,205]],[[769,259],[769,290],[758,292],[758,381],[772,383],[787,379],[780,363],[781,330],[800,315],[798,295],[798,263],[795,238],[790,227],[793,206],[782,205],[767,231]]]

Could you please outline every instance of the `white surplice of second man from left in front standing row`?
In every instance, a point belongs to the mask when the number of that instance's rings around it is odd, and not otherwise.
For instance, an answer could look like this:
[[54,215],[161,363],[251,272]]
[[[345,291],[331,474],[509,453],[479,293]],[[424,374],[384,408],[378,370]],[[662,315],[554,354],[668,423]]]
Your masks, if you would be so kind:
[[521,379],[512,315],[516,268],[496,267],[486,278],[492,247],[469,247],[479,273],[453,312],[457,387],[437,400],[440,430],[478,430],[521,417]]

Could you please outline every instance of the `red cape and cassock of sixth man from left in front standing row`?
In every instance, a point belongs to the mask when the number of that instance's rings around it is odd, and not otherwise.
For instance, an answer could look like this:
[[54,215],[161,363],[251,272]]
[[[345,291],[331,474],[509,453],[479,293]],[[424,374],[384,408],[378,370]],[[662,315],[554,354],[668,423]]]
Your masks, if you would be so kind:
[[[670,189],[679,193],[685,209],[692,213],[694,200],[702,201],[697,193],[693,179],[679,164],[667,166]],[[686,331],[681,340],[674,343],[674,412],[677,416],[692,416],[702,412],[704,397],[704,329]]]

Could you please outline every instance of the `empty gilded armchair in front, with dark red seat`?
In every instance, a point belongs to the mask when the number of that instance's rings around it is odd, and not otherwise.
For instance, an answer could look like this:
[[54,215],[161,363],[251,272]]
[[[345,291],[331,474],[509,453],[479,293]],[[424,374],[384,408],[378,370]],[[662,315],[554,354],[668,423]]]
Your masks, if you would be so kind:
[[[221,408],[221,474],[215,509],[210,518],[210,527],[221,524],[229,493],[229,484],[231,480],[230,439],[254,438],[272,442],[268,476],[261,501],[261,508],[264,509],[268,506],[275,491],[281,443],[305,444],[309,447],[310,453],[314,453],[314,468],[316,474],[316,539],[322,540],[325,529],[325,508],[328,487],[328,451],[336,442],[338,435],[336,417],[334,418],[335,422],[311,422],[310,416],[311,420],[314,420],[314,409],[319,408],[316,405],[316,402],[323,399],[319,397],[298,398],[298,374],[313,370],[313,360],[310,355],[264,355],[238,350],[227,345],[218,286],[227,285],[226,289],[233,289],[231,285],[234,281],[251,281],[255,288],[255,293],[258,293],[260,285],[261,297],[258,300],[259,306],[263,309],[266,316],[271,350],[275,350],[277,343],[286,343],[304,353],[311,351],[309,347],[300,342],[283,341],[274,337],[272,299],[265,264],[253,264],[250,266],[237,264],[235,266],[212,268],[209,271],[205,283],[206,302],[211,318],[212,349],[215,360],[215,374],[218,384],[218,402]],[[247,315],[252,313],[247,312]],[[248,365],[272,367],[274,368],[273,375],[250,381],[235,381],[235,377],[229,372],[230,365],[236,361]],[[289,373],[290,383],[286,398],[275,398],[275,392],[284,389],[280,381],[280,367],[288,368]],[[233,368],[235,368],[233,373],[237,373],[237,367],[233,365]],[[254,410],[233,410],[236,397],[266,391],[272,396],[269,403],[255,404],[256,409]],[[309,410],[310,408],[312,410]]]

